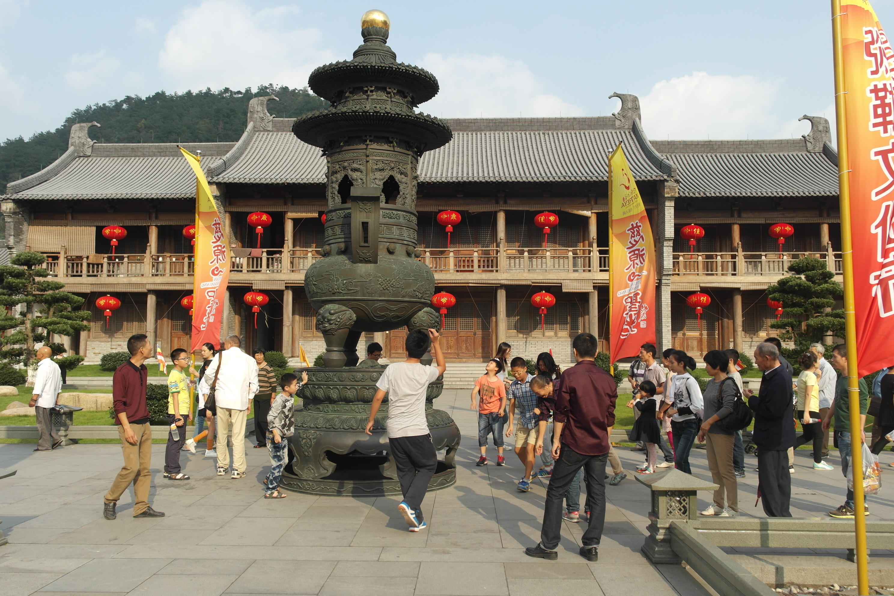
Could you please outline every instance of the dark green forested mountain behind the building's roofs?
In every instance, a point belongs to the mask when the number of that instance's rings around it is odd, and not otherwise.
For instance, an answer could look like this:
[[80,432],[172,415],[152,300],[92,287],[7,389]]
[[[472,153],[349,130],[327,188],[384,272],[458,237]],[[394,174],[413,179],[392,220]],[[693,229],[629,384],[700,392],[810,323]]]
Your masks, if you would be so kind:
[[98,143],[201,143],[235,141],[245,130],[252,97],[274,95],[279,102],[268,110],[280,118],[294,118],[329,104],[307,88],[261,85],[255,91],[223,88],[212,91],[164,91],[149,97],[124,97],[75,110],[56,130],[38,132],[25,140],[0,144],[0,190],[52,164],[68,149],[72,124],[98,122],[90,138]]

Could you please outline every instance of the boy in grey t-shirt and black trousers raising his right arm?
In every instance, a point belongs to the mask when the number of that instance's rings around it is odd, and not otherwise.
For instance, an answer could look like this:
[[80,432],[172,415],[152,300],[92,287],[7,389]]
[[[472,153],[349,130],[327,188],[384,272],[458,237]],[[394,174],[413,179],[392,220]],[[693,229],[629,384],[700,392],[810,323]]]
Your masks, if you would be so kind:
[[[426,355],[434,343],[436,366],[426,366],[419,359]],[[369,409],[367,434],[372,434],[375,415],[388,394],[388,446],[397,467],[397,477],[401,481],[403,500],[398,511],[407,520],[410,532],[418,532],[427,527],[422,518],[422,499],[426,496],[428,481],[437,467],[438,456],[432,444],[432,435],[426,422],[426,392],[429,383],[445,370],[444,355],[438,332],[429,329],[414,329],[407,334],[404,343],[407,359],[389,365],[379,382]]]

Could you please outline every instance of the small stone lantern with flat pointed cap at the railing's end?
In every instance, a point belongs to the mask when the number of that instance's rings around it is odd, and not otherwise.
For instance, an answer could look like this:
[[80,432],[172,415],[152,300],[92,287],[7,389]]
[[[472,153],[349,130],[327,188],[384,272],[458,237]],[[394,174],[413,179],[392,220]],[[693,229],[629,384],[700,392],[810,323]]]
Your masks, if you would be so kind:
[[652,491],[652,523],[641,550],[654,564],[678,564],[681,559],[671,550],[671,522],[697,519],[698,491],[716,491],[719,487],[673,468],[667,474],[638,475],[637,482]]

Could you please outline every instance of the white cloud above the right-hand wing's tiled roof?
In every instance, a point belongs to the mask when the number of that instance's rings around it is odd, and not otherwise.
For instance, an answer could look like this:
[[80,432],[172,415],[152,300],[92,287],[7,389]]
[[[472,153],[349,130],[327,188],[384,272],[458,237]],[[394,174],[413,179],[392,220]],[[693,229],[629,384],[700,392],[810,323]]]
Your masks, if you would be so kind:
[[643,126],[654,139],[788,136],[776,115],[778,91],[776,80],[696,71],[659,81],[640,98]]

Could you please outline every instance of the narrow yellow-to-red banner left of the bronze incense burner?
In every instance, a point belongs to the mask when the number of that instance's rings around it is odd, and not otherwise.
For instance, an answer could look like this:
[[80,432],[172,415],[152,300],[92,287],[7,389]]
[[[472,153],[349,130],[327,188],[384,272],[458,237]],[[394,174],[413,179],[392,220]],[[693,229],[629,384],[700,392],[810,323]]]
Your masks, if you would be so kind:
[[193,262],[193,315],[191,351],[204,343],[220,348],[223,294],[230,279],[230,257],[223,222],[198,155],[180,147],[196,172],[196,247]]

